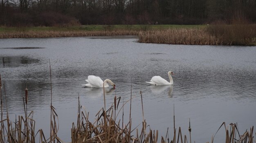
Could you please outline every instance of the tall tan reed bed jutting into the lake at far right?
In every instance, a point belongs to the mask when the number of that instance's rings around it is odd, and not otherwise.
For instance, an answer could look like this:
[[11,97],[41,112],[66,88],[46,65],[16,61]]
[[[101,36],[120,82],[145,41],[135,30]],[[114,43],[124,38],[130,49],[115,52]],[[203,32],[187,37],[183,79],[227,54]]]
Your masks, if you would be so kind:
[[256,24],[213,24],[199,29],[139,33],[138,42],[189,45],[256,45]]

